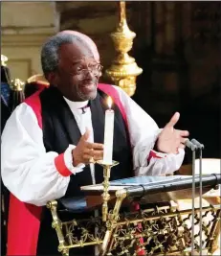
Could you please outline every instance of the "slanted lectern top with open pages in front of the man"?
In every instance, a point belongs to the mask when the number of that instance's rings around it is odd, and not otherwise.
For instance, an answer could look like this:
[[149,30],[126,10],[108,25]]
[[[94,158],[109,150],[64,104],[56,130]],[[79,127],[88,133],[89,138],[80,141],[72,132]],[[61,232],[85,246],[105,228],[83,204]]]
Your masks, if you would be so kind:
[[[203,194],[211,189],[217,188],[220,184],[221,176],[203,175],[202,186]],[[195,197],[199,196],[200,176],[195,175]],[[174,175],[174,176],[136,176],[110,181],[109,194],[115,195],[115,192],[125,189],[128,198],[141,195],[141,198],[150,199],[151,196],[164,199],[183,199],[192,198],[192,176]],[[85,195],[100,196],[103,192],[102,184],[89,185],[81,187]],[[133,193],[134,192],[134,193]],[[135,193],[136,192],[136,193]],[[138,196],[139,197],[139,196]],[[151,199],[150,199],[151,201]]]

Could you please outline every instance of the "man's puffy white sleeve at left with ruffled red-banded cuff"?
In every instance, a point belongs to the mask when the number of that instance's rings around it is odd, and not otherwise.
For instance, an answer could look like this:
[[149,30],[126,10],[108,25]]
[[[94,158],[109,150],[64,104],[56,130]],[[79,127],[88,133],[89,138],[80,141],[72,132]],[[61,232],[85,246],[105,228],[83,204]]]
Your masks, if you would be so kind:
[[[42,129],[39,128],[31,106],[25,103],[12,112],[2,133],[2,179],[11,193],[21,201],[45,205],[47,201],[65,195],[70,175],[80,168],[70,168],[69,175],[61,175],[55,159],[63,157],[68,169],[71,145],[62,155],[46,152]],[[66,169],[66,173],[67,173]]]

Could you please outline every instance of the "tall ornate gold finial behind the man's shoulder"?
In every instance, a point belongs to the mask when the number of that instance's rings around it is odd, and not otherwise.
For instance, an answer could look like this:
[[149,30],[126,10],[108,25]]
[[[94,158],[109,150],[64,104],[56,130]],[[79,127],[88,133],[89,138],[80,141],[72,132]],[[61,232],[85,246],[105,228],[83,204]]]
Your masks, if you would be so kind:
[[117,56],[111,67],[106,70],[106,74],[116,85],[122,87],[129,96],[132,96],[136,90],[136,78],[142,74],[143,70],[138,67],[135,58],[128,55],[136,34],[130,31],[127,26],[125,2],[121,1],[118,5],[120,8],[119,25],[116,32],[111,34]]

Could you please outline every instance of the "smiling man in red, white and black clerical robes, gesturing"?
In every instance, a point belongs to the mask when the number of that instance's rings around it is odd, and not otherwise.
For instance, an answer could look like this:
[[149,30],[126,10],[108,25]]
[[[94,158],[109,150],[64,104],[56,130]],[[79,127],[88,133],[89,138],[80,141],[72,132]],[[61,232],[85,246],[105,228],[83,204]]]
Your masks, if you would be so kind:
[[[2,135],[2,177],[11,191],[8,255],[59,255],[51,227],[49,200],[80,196],[80,187],[102,182],[106,99],[113,99],[111,180],[134,175],[166,175],[184,159],[188,131],[174,129],[175,113],[159,129],[120,87],[100,84],[95,43],[64,31],[42,47],[41,64],[49,88],[37,91],[11,114]],[[86,246],[73,255],[94,255]]]

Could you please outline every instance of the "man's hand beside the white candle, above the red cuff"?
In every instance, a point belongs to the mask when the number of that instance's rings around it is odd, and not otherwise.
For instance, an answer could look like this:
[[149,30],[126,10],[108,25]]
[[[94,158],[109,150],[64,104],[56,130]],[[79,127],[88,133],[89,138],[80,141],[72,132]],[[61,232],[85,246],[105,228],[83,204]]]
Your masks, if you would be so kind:
[[87,129],[77,147],[72,151],[74,167],[78,164],[89,164],[92,157],[94,161],[101,160],[103,157],[103,144],[88,142],[89,135],[90,131]]

